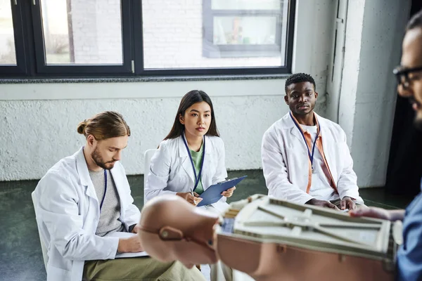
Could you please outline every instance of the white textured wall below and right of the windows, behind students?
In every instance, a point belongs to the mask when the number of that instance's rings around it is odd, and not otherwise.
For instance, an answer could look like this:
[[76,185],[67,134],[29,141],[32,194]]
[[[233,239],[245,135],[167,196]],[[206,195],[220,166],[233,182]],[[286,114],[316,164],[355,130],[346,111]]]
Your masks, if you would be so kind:
[[[293,71],[314,75],[324,115],[333,0],[299,0]],[[304,19],[308,19],[304,20]],[[298,33],[300,32],[300,33]],[[78,122],[117,110],[133,136],[122,160],[127,174],[143,174],[143,152],[170,131],[184,93],[202,89],[215,105],[228,169],[260,169],[264,131],[288,112],[284,79],[143,83],[0,84],[0,181],[41,178],[84,138]]]

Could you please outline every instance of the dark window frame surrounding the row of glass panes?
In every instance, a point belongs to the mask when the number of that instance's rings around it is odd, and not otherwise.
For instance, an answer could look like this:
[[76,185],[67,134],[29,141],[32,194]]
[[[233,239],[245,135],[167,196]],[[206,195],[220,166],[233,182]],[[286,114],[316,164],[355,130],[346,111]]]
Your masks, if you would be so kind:
[[[11,0],[18,65],[0,65],[0,79],[2,77],[41,79],[51,77],[57,79],[70,77],[242,76],[289,74],[292,71],[296,0],[288,1],[285,66],[174,69],[144,69],[143,67],[142,0],[120,1],[122,65],[47,65],[44,53],[41,0],[16,0],[18,1],[17,6],[13,5],[13,1]],[[281,32],[278,33],[281,36]]]

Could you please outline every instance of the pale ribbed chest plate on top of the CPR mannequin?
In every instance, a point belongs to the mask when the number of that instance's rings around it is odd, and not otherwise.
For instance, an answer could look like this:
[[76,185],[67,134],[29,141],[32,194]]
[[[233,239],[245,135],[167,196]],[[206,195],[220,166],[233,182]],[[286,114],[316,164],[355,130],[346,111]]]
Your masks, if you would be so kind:
[[[219,234],[371,259],[392,261],[395,256],[397,242],[391,243],[390,221],[352,218],[339,211],[270,197],[252,200],[239,209],[234,221],[226,216],[231,226],[222,228]],[[397,229],[397,233],[400,231]]]

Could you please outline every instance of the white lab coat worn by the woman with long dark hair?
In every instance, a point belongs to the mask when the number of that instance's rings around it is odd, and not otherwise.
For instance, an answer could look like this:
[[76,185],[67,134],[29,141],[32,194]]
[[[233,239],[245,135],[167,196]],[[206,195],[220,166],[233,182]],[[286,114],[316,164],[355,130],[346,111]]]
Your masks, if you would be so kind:
[[[164,194],[189,192],[195,185],[193,167],[184,141],[179,136],[160,143],[155,151],[145,185],[145,201]],[[224,143],[216,136],[205,136],[205,159],[201,174],[204,190],[227,177]],[[226,197],[212,204],[218,211],[224,211],[229,205]]]

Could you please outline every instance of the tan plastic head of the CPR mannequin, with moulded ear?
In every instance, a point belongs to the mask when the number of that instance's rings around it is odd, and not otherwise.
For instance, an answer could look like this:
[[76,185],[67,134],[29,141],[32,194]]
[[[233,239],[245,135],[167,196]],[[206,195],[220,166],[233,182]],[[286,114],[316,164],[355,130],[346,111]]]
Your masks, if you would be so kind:
[[218,216],[176,195],[155,197],[145,204],[139,235],[145,251],[159,261],[181,261],[188,268],[216,263],[213,248]]

